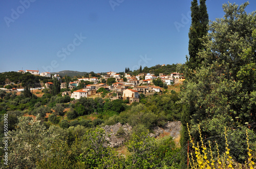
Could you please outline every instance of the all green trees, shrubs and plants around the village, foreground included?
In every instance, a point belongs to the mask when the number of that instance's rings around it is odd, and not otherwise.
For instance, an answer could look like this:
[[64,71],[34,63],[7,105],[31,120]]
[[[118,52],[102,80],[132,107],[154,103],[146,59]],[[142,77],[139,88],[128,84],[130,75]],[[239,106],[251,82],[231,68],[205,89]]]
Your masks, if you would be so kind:
[[[25,90],[22,93],[0,90],[0,142],[5,137],[7,114],[11,161],[5,166],[2,158],[0,167],[186,168],[187,155],[189,165],[194,168],[255,167],[256,12],[247,14],[244,10],[247,5],[225,4],[224,17],[212,21],[207,34],[205,1],[198,6],[193,0],[190,59],[186,65],[144,69],[140,66],[133,72],[125,68],[131,75],[154,72],[158,76],[181,71],[186,77],[184,84],[169,86],[154,95],[140,94],[139,102],[132,104],[101,97],[74,100],[61,96],[57,79],[30,73],[2,73],[0,85],[16,80]],[[84,76],[100,75],[90,72]],[[65,82],[71,80],[77,77],[65,76]],[[52,81],[53,86],[37,97],[30,87],[40,81]],[[115,78],[106,81],[109,85],[114,82]],[[153,82],[165,88],[160,78]],[[81,81],[76,89],[88,84]],[[10,87],[13,86],[6,88]],[[100,88],[97,93],[104,96],[109,92]],[[164,136],[165,133],[158,138],[150,136],[150,132],[168,121],[181,121],[183,125],[180,148],[177,140]],[[115,134],[123,138],[121,148],[126,151],[125,156],[109,146],[109,135],[102,128],[119,123],[132,127],[129,131],[119,127]],[[3,155],[1,147],[0,156]]]

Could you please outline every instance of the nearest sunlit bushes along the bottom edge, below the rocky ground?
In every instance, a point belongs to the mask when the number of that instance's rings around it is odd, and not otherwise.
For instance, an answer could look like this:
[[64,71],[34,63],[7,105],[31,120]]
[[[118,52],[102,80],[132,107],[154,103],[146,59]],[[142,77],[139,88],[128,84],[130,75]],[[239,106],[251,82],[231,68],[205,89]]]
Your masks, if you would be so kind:
[[133,134],[127,142],[132,155],[125,159],[108,146],[102,128],[46,128],[38,118],[18,118],[17,129],[9,132],[9,166],[1,163],[2,168],[161,168],[176,150],[172,138],[157,141],[147,131]]

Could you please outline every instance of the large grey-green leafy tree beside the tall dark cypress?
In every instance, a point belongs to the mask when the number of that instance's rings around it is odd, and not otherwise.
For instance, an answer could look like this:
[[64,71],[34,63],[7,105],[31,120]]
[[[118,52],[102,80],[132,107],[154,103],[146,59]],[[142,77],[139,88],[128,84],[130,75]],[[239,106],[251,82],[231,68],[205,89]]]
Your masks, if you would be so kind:
[[[221,135],[226,127],[230,134],[237,135],[239,142],[243,138],[238,128],[255,123],[256,15],[245,12],[247,5],[223,5],[224,17],[212,21],[210,33],[201,39],[203,48],[197,52],[200,64],[194,62],[197,66],[192,69],[185,67],[180,101],[184,105],[181,145],[189,139],[186,123],[195,141],[200,139],[196,132],[200,125],[204,138]],[[253,140],[255,133],[252,135]],[[228,140],[228,144],[234,142],[234,138]],[[225,146],[225,142],[218,144]],[[241,149],[245,148],[233,149],[239,158],[243,157]]]

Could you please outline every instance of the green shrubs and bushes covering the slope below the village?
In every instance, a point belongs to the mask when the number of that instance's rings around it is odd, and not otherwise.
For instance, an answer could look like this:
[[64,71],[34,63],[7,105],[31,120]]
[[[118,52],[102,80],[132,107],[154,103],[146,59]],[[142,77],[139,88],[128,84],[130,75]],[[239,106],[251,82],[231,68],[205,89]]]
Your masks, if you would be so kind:
[[[143,103],[126,105],[123,100],[84,97],[68,103],[69,96],[54,96],[49,90],[45,90],[42,97],[32,95],[27,98],[24,94],[17,96],[15,92],[0,91],[3,96],[0,103],[1,128],[4,128],[3,114],[8,114],[12,124],[9,127],[11,149],[8,155],[14,162],[10,167],[157,167],[168,165],[167,156],[179,150],[170,137],[155,140],[148,136],[148,130],[152,131],[153,127],[164,125],[169,120],[180,120],[181,106],[176,104],[178,93],[143,96]],[[28,114],[36,116],[36,120],[24,117]],[[106,146],[108,141],[103,136],[104,131],[97,127],[118,122],[133,126],[131,137],[130,134],[125,135],[121,128],[118,132],[119,136],[125,136],[128,151],[135,155],[127,159]],[[137,141],[145,144],[142,150],[136,151]],[[172,148],[169,148],[169,143],[172,143]],[[1,149],[1,155],[3,152]],[[133,162],[134,157],[138,157],[136,162]]]

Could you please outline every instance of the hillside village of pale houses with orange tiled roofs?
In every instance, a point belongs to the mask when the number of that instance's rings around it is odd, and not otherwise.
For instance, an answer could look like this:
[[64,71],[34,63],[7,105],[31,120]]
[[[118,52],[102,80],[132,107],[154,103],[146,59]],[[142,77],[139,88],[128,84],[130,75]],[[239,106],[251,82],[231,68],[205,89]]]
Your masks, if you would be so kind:
[[[130,103],[139,102],[139,95],[150,95],[155,92],[159,93],[163,91],[163,88],[154,85],[153,80],[161,79],[163,84],[173,85],[175,83],[182,83],[185,80],[185,77],[182,73],[173,72],[169,75],[165,75],[164,73],[159,73],[159,76],[155,76],[151,73],[139,73],[136,76],[132,76],[129,73],[124,73],[124,76],[121,74],[110,71],[105,74],[97,74],[98,77],[92,77],[89,74],[89,77],[77,78],[77,80],[70,82],[65,81],[65,77],[60,77],[58,74],[51,75],[50,72],[42,72],[39,74],[38,70],[19,70],[17,72],[25,73],[29,72],[36,76],[45,76],[45,77],[53,77],[57,78],[60,81],[60,89],[68,89],[68,91],[62,92],[62,96],[69,95],[71,98],[80,99],[81,97],[98,97],[99,93],[97,91],[100,88],[103,88],[105,91],[109,93],[107,96],[111,98],[111,100],[115,99],[123,99],[129,100]],[[102,81],[108,81],[108,79],[112,78],[115,82],[111,85],[107,83],[103,83]],[[81,82],[91,82],[90,85],[84,85],[82,89],[76,89]],[[68,87],[67,87],[68,85]],[[45,88],[49,89],[53,86],[53,82],[44,83]]]

